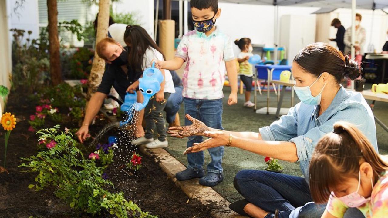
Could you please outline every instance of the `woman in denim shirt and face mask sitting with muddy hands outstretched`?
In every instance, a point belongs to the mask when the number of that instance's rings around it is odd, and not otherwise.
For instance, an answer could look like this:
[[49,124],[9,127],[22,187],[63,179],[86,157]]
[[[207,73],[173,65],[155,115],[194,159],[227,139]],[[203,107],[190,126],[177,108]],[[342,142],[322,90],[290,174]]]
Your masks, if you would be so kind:
[[[300,162],[304,175],[296,177],[280,173],[242,170],[234,179],[234,186],[244,197],[230,205],[241,215],[275,217],[321,217],[325,205],[312,202],[308,187],[308,163],[320,137],[333,131],[333,124],[344,120],[355,124],[372,143],[376,151],[376,125],[371,108],[360,93],[346,91],[341,82],[357,79],[360,69],[356,62],[327,43],[314,43],[294,58],[292,74],[295,92],[301,103],[290,108],[270,126],[259,132],[228,132],[206,127],[188,117],[193,124],[172,127],[175,137],[202,135],[210,137],[185,153],[217,146],[233,146],[262,156],[290,162]],[[194,128],[193,128],[194,127]],[[345,217],[363,217],[357,210],[348,210]]]

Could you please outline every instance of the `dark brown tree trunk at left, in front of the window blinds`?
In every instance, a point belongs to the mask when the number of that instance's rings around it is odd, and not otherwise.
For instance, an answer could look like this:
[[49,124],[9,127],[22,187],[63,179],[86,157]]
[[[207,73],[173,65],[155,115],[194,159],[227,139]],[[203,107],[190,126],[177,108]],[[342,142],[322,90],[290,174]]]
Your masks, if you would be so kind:
[[49,53],[50,53],[50,76],[54,86],[62,82],[61,59],[59,58],[58,39],[58,10],[57,0],[47,0],[47,14],[49,17]]

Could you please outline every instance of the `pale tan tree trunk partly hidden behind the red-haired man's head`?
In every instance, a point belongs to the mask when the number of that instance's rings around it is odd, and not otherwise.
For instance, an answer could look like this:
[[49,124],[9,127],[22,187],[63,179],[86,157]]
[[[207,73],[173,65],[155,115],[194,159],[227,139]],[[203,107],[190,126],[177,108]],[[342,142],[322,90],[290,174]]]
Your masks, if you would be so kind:
[[[108,34],[109,2],[110,0],[100,0],[99,2],[96,45],[101,39],[106,38]],[[88,101],[92,97],[92,94],[97,91],[102,75],[104,74],[104,70],[105,61],[97,55],[97,52],[94,52],[92,70],[90,70],[90,77],[88,79]]]

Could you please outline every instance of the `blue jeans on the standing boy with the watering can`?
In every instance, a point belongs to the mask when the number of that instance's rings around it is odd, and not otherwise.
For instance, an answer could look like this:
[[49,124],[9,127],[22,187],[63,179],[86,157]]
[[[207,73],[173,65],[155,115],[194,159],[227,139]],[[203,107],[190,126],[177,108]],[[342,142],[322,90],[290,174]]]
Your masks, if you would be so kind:
[[[201,100],[184,98],[185,113],[191,117],[204,122],[208,127],[215,129],[222,128],[222,98],[217,100]],[[191,125],[191,121],[185,119],[185,125]],[[190,136],[187,142],[187,148],[191,147],[193,143],[202,142],[202,136]],[[208,172],[222,173],[222,156],[223,146],[208,149],[211,162],[208,164]],[[189,165],[187,168],[191,170],[200,170],[204,163],[203,151],[197,153],[187,154],[187,161]]]

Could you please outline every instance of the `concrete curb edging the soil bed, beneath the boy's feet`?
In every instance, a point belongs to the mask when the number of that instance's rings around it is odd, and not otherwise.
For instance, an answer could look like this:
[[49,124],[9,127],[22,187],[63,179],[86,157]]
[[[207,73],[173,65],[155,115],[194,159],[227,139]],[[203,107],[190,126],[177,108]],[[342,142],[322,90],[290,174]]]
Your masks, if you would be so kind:
[[140,152],[151,156],[159,163],[162,170],[167,173],[168,177],[173,180],[173,182],[182,189],[183,192],[190,199],[198,199],[202,204],[211,208],[211,215],[216,218],[246,218],[246,216],[241,216],[229,209],[229,202],[225,200],[220,194],[214,191],[211,187],[206,187],[199,185],[199,179],[191,179],[187,181],[178,181],[175,178],[175,174],[182,170],[185,170],[186,167],[175,159],[170,153],[165,149],[147,149],[143,146],[140,146]]

